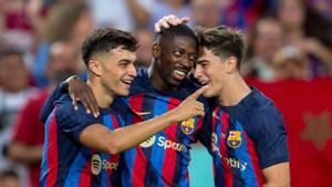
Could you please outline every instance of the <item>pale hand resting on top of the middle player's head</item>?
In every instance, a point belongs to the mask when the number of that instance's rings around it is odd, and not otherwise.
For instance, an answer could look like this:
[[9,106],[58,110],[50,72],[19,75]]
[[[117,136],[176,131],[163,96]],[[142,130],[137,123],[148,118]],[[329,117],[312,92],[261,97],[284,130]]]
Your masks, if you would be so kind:
[[170,25],[185,24],[189,20],[189,17],[177,18],[174,14],[168,14],[155,23],[155,32],[160,32],[162,27],[168,29]]

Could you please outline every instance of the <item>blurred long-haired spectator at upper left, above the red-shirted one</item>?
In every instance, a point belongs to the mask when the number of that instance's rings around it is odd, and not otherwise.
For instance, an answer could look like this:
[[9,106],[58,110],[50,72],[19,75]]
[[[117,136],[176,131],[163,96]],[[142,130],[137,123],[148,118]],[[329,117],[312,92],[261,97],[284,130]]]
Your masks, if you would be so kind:
[[68,40],[72,48],[80,49],[84,37],[87,35],[93,27],[94,22],[85,1],[61,1],[50,10],[42,32],[43,41],[39,46],[34,67],[34,77],[39,86],[46,86],[48,84],[44,69],[48,62],[50,44],[53,41]]

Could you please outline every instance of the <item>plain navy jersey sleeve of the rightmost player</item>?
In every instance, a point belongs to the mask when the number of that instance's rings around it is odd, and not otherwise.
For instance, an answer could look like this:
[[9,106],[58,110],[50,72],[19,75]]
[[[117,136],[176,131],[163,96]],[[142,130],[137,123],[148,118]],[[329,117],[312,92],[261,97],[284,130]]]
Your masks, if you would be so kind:
[[252,117],[249,127],[262,169],[289,162],[287,133],[279,111],[259,112]]

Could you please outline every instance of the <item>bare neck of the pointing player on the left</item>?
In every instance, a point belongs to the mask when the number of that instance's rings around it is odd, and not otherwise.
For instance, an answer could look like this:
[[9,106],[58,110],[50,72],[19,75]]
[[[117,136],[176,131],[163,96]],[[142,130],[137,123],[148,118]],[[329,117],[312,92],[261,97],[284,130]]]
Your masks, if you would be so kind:
[[113,103],[114,95],[106,92],[98,80],[89,79],[87,85],[92,90],[96,103],[100,107],[108,107]]

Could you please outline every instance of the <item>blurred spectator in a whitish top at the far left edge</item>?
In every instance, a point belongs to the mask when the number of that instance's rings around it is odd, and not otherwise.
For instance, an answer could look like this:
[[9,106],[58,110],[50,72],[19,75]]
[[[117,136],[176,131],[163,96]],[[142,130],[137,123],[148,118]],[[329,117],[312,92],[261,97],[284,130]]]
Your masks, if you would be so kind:
[[11,138],[13,120],[35,91],[29,85],[29,72],[18,49],[0,50],[0,170],[14,168],[22,177],[27,175],[25,169],[10,163],[2,154]]

